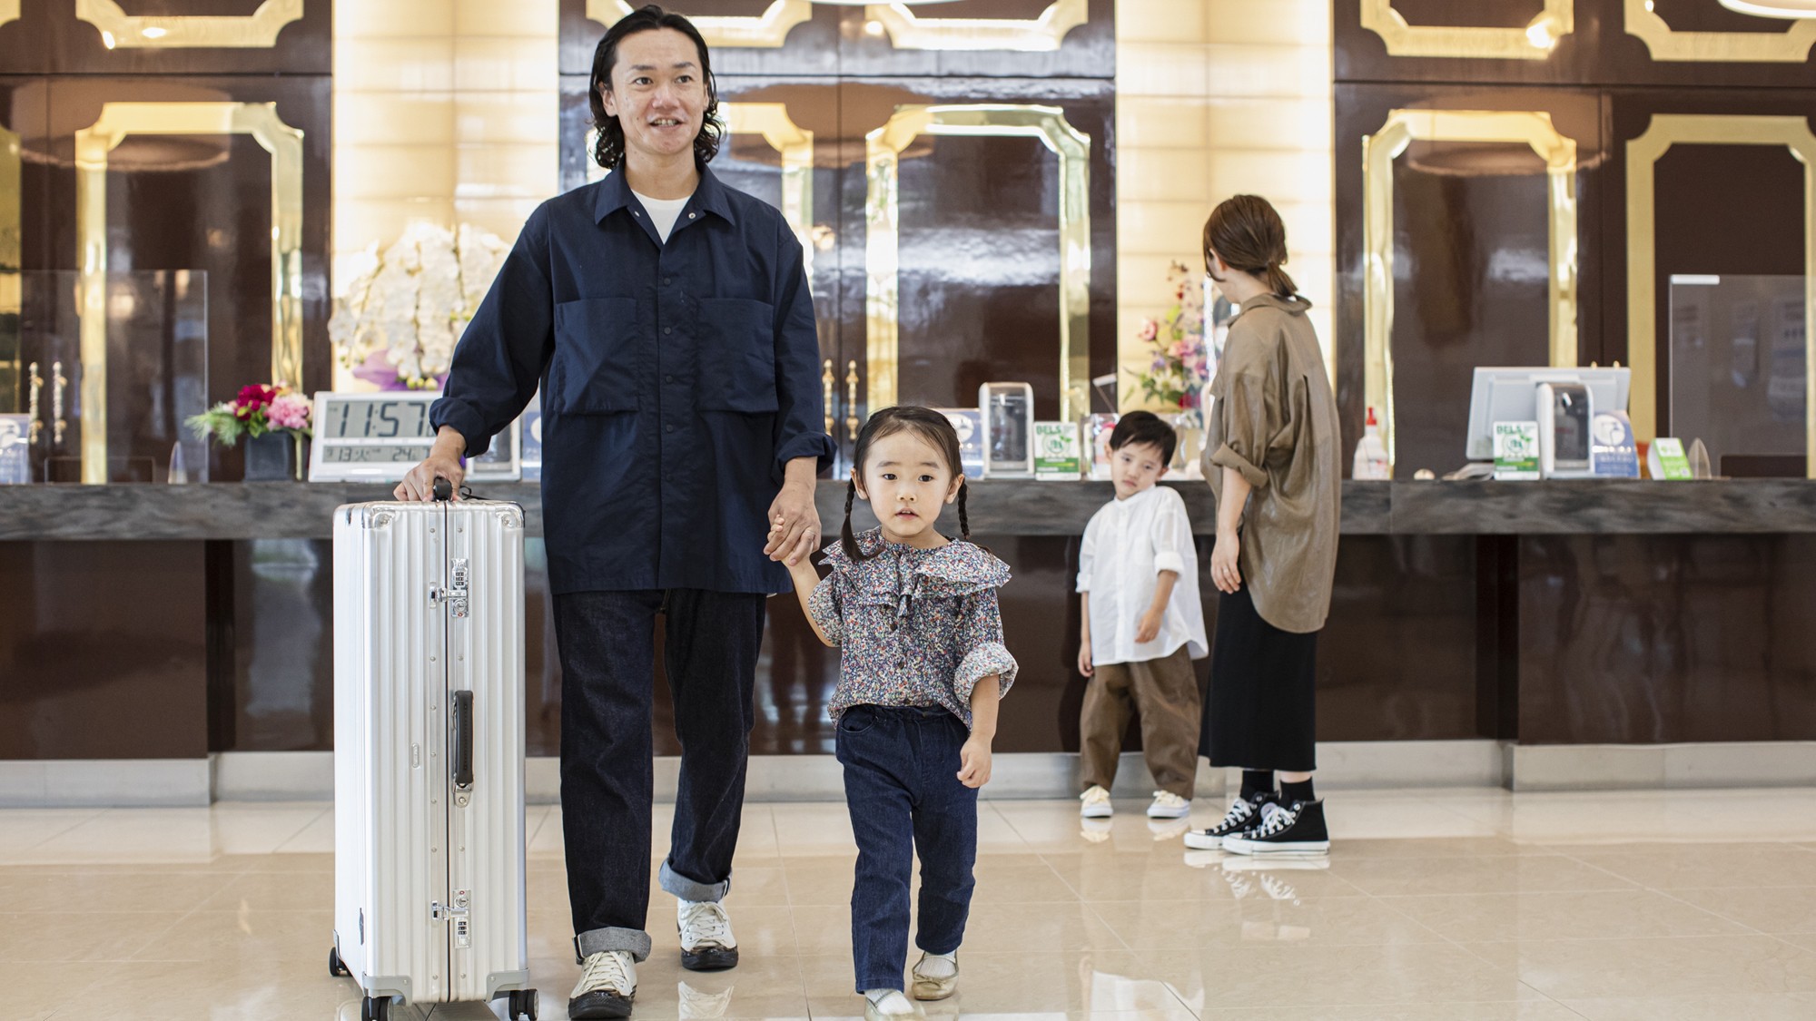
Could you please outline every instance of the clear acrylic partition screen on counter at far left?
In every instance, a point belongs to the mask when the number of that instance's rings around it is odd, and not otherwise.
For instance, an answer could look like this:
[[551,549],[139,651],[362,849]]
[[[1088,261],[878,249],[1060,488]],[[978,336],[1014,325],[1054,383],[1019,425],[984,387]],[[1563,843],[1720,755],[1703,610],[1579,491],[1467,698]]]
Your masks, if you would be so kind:
[[171,481],[173,465],[207,481],[207,447],[183,425],[209,400],[207,274],[89,280],[98,292],[76,271],[5,274],[0,420],[25,445],[5,481]]

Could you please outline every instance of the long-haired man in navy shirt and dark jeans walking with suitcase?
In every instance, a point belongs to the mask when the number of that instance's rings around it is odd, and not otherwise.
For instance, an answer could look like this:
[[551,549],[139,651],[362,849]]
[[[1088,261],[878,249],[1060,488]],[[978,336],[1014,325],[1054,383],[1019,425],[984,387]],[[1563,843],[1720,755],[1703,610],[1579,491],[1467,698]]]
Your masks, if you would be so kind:
[[706,44],[643,7],[599,42],[594,158],[612,173],[545,202],[454,351],[430,456],[485,452],[543,392],[543,525],[561,654],[561,808],[576,952],[570,1017],[625,1017],[650,952],[654,627],[681,739],[661,887],[681,963],[730,968],[721,899],[745,796],[765,596],[819,547],[832,458],[801,243],[719,182]]

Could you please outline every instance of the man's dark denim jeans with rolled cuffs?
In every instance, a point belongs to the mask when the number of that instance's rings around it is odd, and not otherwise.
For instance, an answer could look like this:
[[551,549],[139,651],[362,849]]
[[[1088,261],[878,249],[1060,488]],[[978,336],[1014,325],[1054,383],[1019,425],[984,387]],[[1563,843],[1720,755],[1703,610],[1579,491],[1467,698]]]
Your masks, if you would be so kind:
[[732,887],[745,808],[750,692],[765,596],[672,589],[556,596],[561,650],[561,823],[574,948],[650,956],[650,705],[656,614],[681,738],[663,890],[717,901]]

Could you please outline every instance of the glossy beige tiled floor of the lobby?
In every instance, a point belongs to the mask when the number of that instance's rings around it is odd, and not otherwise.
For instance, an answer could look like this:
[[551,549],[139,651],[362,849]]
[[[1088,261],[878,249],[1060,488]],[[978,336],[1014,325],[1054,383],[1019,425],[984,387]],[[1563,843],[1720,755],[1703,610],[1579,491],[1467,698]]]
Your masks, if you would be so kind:
[[[1816,827],[1709,839],[1711,818],[1816,812],[1816,792],[1338,792],[1322,863],[1188,852],[1142,805],[1086,827],[1075,801],[981,803],[961,994],[926,1017],[1816,1019]],[[1200,799],[1193,823],[1220,814]],[[859,1017],[846,807],[746,808],[745,957],[714,976],[679,966],[654,885],[670,823],[657,808],[636,1017]],[[579,972],[561,828],[525,816],[550,1021]],[[325,968],[332,838],[327,805],[0,810],[0,1017],[356,1019]]]

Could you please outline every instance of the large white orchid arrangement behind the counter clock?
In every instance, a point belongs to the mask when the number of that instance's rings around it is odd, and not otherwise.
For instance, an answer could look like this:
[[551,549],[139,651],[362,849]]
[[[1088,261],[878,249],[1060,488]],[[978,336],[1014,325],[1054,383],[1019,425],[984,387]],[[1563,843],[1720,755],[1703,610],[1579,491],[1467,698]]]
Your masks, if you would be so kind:
[[410,223],[383,254],[372,242],[350,260],[354,276],[329,320],[341,363],[380,389],[441,389],[454,343],[508,253],[470,223]]

